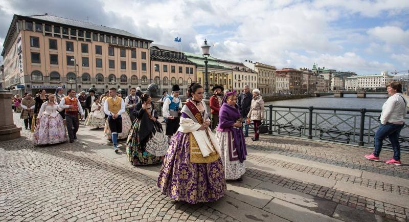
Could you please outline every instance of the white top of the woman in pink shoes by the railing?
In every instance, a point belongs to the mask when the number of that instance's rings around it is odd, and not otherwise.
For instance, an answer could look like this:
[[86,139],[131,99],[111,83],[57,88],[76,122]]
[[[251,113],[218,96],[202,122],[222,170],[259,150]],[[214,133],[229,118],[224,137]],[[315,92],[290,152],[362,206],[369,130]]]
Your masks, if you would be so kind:
[[[387,124],[403,124],[403,118],[405,118],[407,113],[407,108],[405,105],[404,97],[401,93],[395,93],[393,96],[389,97],[388,100],[382,105],[382,113],[380,115],[380,123]],[[406,102],[407,103],[407,102]]]

